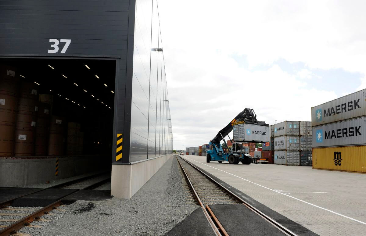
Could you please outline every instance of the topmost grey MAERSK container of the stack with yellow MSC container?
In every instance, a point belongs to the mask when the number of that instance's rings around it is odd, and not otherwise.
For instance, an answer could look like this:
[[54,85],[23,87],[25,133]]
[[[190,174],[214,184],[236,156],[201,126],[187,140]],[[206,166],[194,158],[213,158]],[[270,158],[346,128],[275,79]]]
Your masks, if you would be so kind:
[[312,126],[366,116],[366,89],[311,108]]

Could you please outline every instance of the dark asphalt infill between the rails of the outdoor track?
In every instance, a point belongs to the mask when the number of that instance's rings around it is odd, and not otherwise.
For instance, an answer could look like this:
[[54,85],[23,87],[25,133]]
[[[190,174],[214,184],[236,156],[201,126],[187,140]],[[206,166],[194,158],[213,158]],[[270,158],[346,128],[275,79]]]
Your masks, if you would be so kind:
[[220,204],[209,207],[230,236],[285,235],[243,204]]

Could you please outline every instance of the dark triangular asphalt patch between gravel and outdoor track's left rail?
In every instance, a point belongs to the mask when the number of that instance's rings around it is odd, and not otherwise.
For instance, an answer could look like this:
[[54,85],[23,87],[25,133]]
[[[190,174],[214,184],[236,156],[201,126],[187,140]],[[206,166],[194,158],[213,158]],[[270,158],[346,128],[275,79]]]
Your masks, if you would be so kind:
[[200,207],[174,226],[165,236],[212,236],[214,234],[205,213]]

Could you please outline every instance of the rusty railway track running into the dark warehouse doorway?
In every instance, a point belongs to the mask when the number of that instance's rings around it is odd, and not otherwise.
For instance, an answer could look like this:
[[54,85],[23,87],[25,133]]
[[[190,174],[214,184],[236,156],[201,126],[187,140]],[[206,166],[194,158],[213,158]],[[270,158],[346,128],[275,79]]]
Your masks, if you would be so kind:
[[[56,186],[51,186],[48,188],[43,188],[41,190],[36,190],[34,192],[30,192],[29,194],[24,194],[21,196],[17,196],[15,198],[7,199],[3,202],[0,202],[0,216],[11,216],[11,217],[18,217],[17,219],[1,219],[0,220],[0,236],[9,236],[9,235],[19,235],[19,236],[27,236],[28,234],[17,232],[19,229],[23,228],[24,226],[28,227],[35,227],[41,228],[41,226],[31,225],[30,223],[33,221],[49,221],[46,219],[41,218],[44,215],[48,215],[49,211],[56,210],[57,207],[62,205],[62,201],[70,196],[71,194],[75,194],[76,192],[82,190],[89,190],[96,188],[104,183],[107,183],[111,179],[110,175],[106,173],[96,174],[92,176],[83,177],[80,179],[68,181],[66,183],[57,184]],[[38,192],[42,192],[51,188],[68,188],[73,189],[74,191],[68,191],[67,194],[60,196],[55,202],[45,206],[45,207],[30,207],[30,208],[22,208],[22,207],[9,207],[11,206],[12,202],[17,199],[20,199],[24,196],[28,196],[31,194],[35,194]],[[4,211],[4,212],[2,212]],[[9,211],[12,212],[22,212],[22,213],[8,213]],[[24,212],[30,211],[30,213],[24,214]],[[22,217],[23,218],[20,218]],[[14,222],[14,223],[12,223]],[[4,224],[8,225],[4,225]]]

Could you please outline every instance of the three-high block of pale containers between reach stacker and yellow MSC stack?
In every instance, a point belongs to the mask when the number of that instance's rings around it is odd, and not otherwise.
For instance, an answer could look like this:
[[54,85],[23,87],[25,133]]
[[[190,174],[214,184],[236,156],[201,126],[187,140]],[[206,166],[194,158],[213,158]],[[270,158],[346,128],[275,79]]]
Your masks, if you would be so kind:
[[311,166],[310,122],[287,120],[275,124],[273,136],[274,164]]

